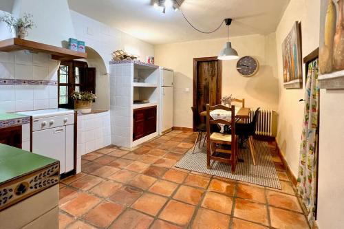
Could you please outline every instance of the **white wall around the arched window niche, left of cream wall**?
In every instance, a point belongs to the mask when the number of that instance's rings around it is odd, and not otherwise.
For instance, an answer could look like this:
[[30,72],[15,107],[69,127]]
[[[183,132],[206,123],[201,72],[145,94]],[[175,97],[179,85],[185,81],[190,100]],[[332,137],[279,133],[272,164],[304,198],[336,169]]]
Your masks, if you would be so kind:
[[[92,52],[87,60],[89,67],[96,67],[96,94],[98,98],[92,105],[94,109],[109,109],[109,61],[112,52],[125,50],[140,56],[140,61],[146,61],[147,56],[154,56],[154,47],[149,43],[129,36],[120,30],[90,19],[83,14],[70,10],[72,23],[76,32],[76,39],[85,41],[87,47],[91,47],[103,60],[96,58]],[[106,69],[103,68],[102,63]]]

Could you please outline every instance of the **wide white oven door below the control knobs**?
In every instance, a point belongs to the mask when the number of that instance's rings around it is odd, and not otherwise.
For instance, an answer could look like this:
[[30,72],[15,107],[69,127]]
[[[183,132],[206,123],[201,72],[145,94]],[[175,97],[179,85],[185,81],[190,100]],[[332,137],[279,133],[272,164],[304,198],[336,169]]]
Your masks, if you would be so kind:
[[60,174],[65,173],[65,126],[32,133],[32,153],[60,161]]

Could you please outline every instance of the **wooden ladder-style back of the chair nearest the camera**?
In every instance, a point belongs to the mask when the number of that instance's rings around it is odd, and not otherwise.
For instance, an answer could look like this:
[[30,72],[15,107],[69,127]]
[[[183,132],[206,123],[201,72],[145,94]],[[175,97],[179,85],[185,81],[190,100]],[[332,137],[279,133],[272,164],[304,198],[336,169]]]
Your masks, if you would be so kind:
[[[211,111],[213,110],[225,110],[225,111],[230,111],[231,112],[231,117],[230,117],[230,122],[228,122],[227,120],[223,120],[223,119],[215,119],[213,120],[211,118]],[[227,126],[231,126],[231,135],[232,135],[232,139],[235,139],[235,106],[231,106],[231,107],[226,107],[224,105],[215,105],[215,106],[210,106],[209,104],[206,105],[206,133],[207,133],[207,138],[208,138],[208,142],[210,142],[210,133],[211,133],[211,124],[224,124]]]

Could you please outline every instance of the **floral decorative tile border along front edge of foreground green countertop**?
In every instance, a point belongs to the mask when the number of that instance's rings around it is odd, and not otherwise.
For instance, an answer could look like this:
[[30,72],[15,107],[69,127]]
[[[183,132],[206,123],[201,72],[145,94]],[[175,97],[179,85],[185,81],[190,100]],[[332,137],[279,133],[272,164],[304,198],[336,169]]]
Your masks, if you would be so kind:
[[24,177],[19,177],[0,186],[0,211],[23,199],[58,184],[60,175],[58,162]]

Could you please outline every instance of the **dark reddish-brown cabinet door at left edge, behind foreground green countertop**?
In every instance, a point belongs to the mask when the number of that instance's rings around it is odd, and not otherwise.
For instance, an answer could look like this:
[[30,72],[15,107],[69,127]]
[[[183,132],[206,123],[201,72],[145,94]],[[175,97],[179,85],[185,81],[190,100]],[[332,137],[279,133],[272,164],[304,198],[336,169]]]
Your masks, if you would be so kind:
[[21,149],[21,126],[0,128],[0,143]]

